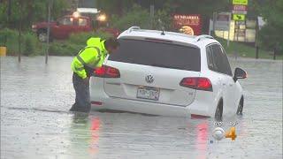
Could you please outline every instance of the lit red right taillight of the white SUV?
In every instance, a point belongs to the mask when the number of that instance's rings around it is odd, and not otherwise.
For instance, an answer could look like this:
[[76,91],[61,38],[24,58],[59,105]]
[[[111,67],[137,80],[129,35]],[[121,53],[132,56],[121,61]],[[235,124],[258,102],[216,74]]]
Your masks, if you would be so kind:
[[180,81],[180,86],[198,90],[212,91],[210,79],[202,77],[184,78]]

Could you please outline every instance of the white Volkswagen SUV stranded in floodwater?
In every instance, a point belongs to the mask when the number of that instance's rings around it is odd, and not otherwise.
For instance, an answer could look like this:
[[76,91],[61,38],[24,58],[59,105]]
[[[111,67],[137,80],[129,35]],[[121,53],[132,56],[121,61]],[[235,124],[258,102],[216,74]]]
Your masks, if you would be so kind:
[[236,68],[232,75],[225,50],[213,37],[130,27],[119,42],[91,78],[93,109],[216,119],[242,113],[237,79],[247,74]]

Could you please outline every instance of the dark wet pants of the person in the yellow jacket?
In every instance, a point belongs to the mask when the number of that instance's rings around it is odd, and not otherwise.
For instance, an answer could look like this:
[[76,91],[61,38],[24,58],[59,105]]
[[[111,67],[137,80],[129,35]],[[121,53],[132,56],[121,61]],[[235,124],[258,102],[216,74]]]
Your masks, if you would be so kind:
[[89,112],[89,82],[85,83],[77,73],[73,72],[73,88],[76,92],[76,100],[71,111]]

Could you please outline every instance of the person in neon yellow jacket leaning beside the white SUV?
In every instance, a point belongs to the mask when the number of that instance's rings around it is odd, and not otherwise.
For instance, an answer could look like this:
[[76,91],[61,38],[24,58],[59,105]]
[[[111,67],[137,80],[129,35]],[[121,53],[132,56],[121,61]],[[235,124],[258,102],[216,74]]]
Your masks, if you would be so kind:
[[107,54],[111,54],[118,47],[119,42],[116,39],[102,40],[91,37],[87,41],[87,47],[81,49],[73,58],[71,67],[76,98],[71,111],[89,112],[89,77],[97,67],[102,66]]

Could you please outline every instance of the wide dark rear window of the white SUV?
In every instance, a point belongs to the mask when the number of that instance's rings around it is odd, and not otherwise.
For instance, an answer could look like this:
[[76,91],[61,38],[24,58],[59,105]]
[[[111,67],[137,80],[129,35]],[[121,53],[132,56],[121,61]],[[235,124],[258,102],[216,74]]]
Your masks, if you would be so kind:
[[119,42],[119,49],[108,58],[111,61],[201,71],[198,48],[146,40],[120,39]]

